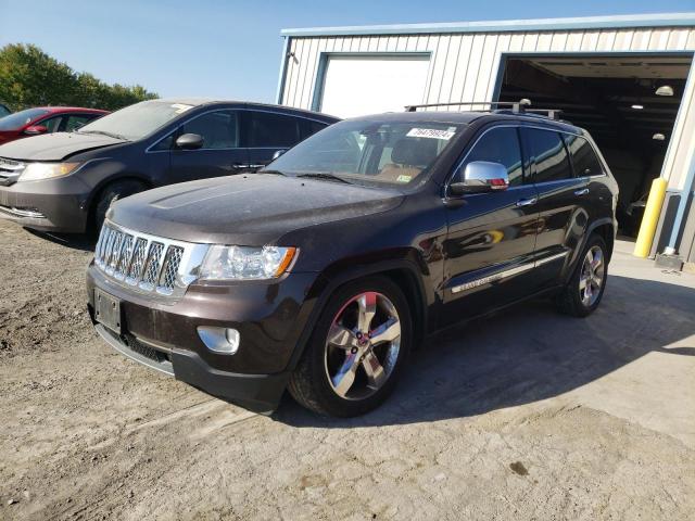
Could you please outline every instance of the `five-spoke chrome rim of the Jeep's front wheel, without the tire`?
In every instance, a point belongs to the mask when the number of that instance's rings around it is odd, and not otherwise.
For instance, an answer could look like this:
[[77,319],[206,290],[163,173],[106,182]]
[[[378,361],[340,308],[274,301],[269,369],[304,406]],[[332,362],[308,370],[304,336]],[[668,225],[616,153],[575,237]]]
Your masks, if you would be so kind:
[[365,292],[338,312],[325,347],[326,376],[338,396],[364,399],[389,380],[399,359],[401,321],[381,293]]

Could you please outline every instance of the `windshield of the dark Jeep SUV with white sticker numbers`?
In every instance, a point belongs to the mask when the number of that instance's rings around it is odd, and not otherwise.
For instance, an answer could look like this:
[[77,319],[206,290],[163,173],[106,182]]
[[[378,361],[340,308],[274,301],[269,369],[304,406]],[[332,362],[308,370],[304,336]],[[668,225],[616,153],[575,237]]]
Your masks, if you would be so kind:
[[404,186],[421,180],[464,125],[346,120],[301,142],[267,166],[290,176]]

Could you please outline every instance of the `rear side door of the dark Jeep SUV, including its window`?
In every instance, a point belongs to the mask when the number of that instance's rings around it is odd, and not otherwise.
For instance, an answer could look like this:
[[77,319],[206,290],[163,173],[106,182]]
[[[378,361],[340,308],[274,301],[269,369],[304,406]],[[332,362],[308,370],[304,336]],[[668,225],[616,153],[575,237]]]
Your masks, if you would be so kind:
[[535,275],[553,285],[586,228],[587,178],[574,175],[566,143],[570,135],[539,127],[523,127],[522,134],[539,194]]

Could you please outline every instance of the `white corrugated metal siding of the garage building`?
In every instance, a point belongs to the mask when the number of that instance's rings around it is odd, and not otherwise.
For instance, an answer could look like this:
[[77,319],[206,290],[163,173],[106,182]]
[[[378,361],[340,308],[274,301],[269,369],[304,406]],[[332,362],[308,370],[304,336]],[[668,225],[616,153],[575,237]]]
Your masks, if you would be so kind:
[[[486,101],[494,94],[504,52],[695,51],[695,28],[637,28],[527,33],[292,37],[280,102],[313,107],[321,52],[430,52],[428,80],[414,103]],[[687,152],[695,148],[695,79],[683,96],[664,176],[680,188]]]

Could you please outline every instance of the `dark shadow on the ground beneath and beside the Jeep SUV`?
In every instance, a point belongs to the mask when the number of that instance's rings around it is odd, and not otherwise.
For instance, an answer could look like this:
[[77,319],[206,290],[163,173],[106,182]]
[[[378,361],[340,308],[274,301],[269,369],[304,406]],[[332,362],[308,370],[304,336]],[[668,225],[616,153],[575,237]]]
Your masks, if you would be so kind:
[[[652,352],[695,356],[695,345],[665,346],[695,334],[695,289],[611,276],[585,319],[547,301],[530,302],[450,329],[412,357],[391,398],[349,420],[312,415],[286,396],[273,416],[295,427],[371,427],[481,415],[560,395]],[[695,342],[695,339],[693,340]]]

